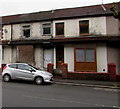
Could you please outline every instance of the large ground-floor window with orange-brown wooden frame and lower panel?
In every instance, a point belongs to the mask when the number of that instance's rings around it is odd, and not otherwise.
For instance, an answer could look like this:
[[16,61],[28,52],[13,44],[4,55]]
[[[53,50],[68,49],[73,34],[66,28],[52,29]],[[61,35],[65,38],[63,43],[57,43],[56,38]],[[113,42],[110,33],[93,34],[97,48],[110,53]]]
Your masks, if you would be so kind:
[[75,71],[96,71],[96,44],[75,46]]

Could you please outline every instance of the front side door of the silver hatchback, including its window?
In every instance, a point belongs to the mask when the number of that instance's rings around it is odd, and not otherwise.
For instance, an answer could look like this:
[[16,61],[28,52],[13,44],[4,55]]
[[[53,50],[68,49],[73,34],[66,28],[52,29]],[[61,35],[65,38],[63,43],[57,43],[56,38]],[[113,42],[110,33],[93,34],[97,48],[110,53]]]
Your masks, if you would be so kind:
[[26,64],[18,64],[18,78],[24,80],[32,80],[33,73],[30,71],[30,66]]

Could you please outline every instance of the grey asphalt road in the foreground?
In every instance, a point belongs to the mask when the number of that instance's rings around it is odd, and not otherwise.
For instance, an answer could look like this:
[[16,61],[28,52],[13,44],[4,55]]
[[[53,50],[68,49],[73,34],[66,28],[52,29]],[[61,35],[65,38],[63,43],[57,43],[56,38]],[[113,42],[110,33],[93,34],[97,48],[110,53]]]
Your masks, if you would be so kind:
[[2,107],[114,107],[117,89],[71,85],[35,85],[24,81],[2,82]]

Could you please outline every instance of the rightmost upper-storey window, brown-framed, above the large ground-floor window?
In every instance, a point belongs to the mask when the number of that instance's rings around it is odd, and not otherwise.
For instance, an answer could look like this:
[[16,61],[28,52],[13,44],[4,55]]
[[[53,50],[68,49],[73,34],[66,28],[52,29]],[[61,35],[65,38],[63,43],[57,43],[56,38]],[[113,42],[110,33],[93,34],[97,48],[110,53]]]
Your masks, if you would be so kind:
[[89,35],[89,20],[79,22],[80,35]]

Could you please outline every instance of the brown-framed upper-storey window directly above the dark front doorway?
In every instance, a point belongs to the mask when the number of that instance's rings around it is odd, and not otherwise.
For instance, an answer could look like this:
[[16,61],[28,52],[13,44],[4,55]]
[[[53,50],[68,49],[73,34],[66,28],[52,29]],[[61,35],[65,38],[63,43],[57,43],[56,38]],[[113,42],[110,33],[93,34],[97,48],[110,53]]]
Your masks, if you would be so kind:
[[64,23],[56,23],[56,36],[64,36]]

